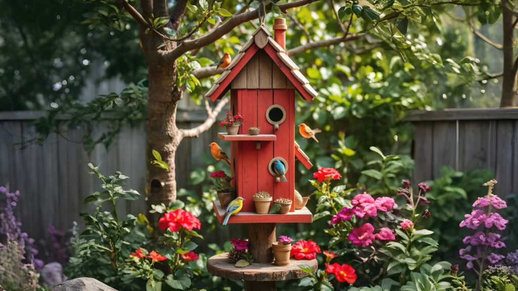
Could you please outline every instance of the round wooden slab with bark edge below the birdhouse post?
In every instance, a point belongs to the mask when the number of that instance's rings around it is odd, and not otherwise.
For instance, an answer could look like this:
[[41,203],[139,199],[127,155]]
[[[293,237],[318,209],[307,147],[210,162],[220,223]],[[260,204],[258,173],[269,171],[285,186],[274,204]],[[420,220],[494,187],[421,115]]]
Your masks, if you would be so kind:
[[259,264],[252,263],[244,268],[237,268],[227,259],[228,253],[222,253],[210,257],[207,260],[207,271],[214,276],[232,280],[244,281],[284,281],[290,279],[300,279],[309,275],[301,270],[298,265],[308,265],[313,268],[313,272],[318,269],[318,261],[292,259],[288,266],[276,266],[274,263]]

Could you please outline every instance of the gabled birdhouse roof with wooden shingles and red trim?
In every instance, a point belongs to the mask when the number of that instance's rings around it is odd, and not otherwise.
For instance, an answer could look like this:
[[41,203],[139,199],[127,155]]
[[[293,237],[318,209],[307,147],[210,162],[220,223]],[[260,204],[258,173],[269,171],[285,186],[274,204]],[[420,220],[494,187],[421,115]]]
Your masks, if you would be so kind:
[[318,96],[318,93],[311,87],[308,79],[300,72],[299,67],[287,55],[286,51],[275,41],[271,33],[263,26],[259,26],[255,32],[234,57],[232,62],[224,68],[223,73],[214,82],[212,88],[205,94],[205,97],[212,101],[220,99],[230,89],[232,80],[239,71],[252,59],[252,56],[260,49],[263,49],[271,60],[279,67],[295,90],[308,102]]

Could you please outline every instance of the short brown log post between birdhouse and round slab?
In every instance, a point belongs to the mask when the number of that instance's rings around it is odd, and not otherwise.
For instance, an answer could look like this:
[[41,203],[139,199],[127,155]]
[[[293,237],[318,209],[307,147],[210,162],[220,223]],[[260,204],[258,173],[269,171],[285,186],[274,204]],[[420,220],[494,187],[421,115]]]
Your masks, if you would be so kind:
[[275,223],[248,224],[248,241],[254,262],[265,264],[274,261],[271,244],[276,240]]

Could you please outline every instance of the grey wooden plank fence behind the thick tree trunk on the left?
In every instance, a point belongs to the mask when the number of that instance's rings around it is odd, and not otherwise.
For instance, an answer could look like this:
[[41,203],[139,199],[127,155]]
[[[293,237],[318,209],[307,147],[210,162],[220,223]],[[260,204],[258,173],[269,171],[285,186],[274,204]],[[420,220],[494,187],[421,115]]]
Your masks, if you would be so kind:
[[[130,177],[127,188],[145,195],[146,187],[146,124],[124,128],[114,144],[106,151],[97,145],[91,153],[84,151],[81,129],[69,130],[63,136],[52,134],[42,146],[21,144],[36,134],[32,122],[44,112],[0,112],[0,185],[10,191],[21,192],[16,207],[17,218],[23,231],[30,237],[44,239],[49,224],[66,230],[79,213],[87,210],[82,200],[100,190],[99,180],[89,174],[87,164],[98,165],[100,171],[112,174],[121,171]],[[205,110],[178,110],[178,126],[194,127],[205,121]],[[189,174],[203,166],[200,153],[208,151],[207,145],[217,140],[218,126],[197,139],[185,139],[177,152],[178,188],[188,187]],[[137,201],[119,203],[118,212],[138,214],[146,210],[143,197]],[[228,239],[228,238],[226,238]]]

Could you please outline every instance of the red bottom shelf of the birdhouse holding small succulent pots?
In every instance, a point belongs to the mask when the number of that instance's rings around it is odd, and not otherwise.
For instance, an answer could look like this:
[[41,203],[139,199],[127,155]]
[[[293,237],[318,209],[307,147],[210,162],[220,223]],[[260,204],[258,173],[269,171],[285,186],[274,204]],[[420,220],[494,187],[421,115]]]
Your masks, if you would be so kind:
[[[218,221],[223,223],[225,209],[220,201],[213,201],[214,212]],[[239,212],[228,219],[228,223],[312,223],[313,215],[307,207],[286,214],[257,214],[255,212]]]

